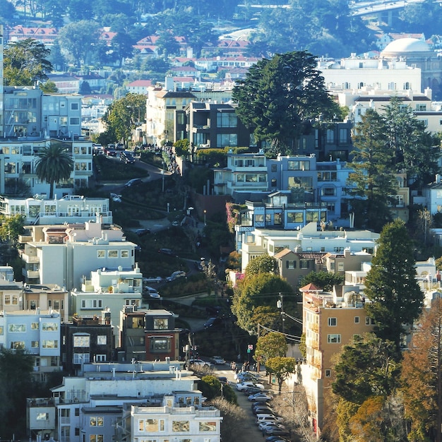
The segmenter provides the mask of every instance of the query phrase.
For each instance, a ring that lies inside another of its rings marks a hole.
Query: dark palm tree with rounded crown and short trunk
[[[68,179],[73,170],[73,160],[62,143],[49,144],[38,153],[35,173],[41,181],[50,184],[49,198],[54,196],[54,183]]]

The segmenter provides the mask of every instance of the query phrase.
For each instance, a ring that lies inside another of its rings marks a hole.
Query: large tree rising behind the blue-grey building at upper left
[[[11,86],[31,86],[47,80],[52,71],[47,57],[50,49],[32,38],[8,44],[4,48],[4,83]]]

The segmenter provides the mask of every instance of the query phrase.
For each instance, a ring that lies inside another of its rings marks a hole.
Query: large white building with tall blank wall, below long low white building
[[[124,232],[97,220],[68,225],[30,225],[21,235],[20,257],[28,283],[80,289],[85,275],[97,268],[135,268],[136,244]]]

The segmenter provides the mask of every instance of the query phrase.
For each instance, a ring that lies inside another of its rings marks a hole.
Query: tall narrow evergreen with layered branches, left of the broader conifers
[[[391,174],[393,154],[387,148],[386,131],[381,115],[369,109],[355,128],[354,172],[347,181],[347,193],[354,197],[356,224],[377,232],[391,220],[389,196],[395,193]]]

